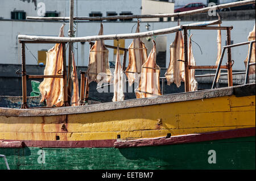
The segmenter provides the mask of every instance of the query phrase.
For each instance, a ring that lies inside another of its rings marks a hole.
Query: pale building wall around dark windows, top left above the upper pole
[[[13,10],[23,10],[26,12],[26,16],[38,16],[40,2],[46,5],[46,11],[56,10],[60,12],[59,16],[69,16],[69,0],[39,0],[36,1],[36,5],[32,1],[28,3],[26,0],[1,0],[0,17],[11,19]],[[100,11],[102,16],[106,16],[107,11],[115,11],[118,15],[122,11],[141,14],[141,6],[142,0],[78,0],[74,2],[74,15],[89,16],[92,11]]]

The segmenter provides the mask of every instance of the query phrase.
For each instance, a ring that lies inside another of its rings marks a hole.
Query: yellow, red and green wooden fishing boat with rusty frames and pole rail
[[[179,94],[72,107],[29,108],[26,78],[40,76],[26,74],[22,56],[22,108],[0,108],[0,154],[5,155],[10,169],[255,169],[255,83],[248,80],[249,67],[255,63],[248,61],[245,84],[239,86],[233,86],[229,66],[231,49],[250,44],[251,50],[255,40],[231,45],[232,27],[210,26],[214,24],[220,20],[130,35],[19,35],[24,55],[26,43],[65,45],[183,31],[185,72],[193,69],[186,63],[187,30],[225,30],[228,45],[223,47],[218,66],[213,66],[217,70],[212,89],[189,92],[185,79],[185,92]],[[225,49],[228,64],[224,67]],[[215,89],[221,68],[228,70],[229,86]],[[67,80],[65,69],[57,76]],[[84,86],[81,92],[86,90]],[[6,169],[5,160],[0,159],[0,169]]]

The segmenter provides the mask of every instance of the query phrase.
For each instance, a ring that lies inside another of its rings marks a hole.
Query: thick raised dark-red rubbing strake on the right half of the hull
[[[192,143],[192,142],[212,141],[212,140],[224,140],[229,138],[249,137],[249,136],[255,136],[255,127],[233,129],[229,131],[187,134],[187,135],[181,135],[181,136],[172,136],[170,138],[159,137],[159,138],[146,138],[146,139],[130,140],[130,141],[117,141],[115,142],[114,147],[129,148],[129,147],[138,147],[138,146],[175,145],[175,144],[186,144],[186,143]]]

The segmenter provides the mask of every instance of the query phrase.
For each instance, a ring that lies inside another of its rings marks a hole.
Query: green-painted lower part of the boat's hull
[[[43,152],[43,151],[44,152]],[[209,163],[216,153],[216,163]],[[255,169],[255,136],[137,148],[0,148],[10,169]],[[45,163],[40,157],[45,153]],[[38,162],[39,160],[39,162]],[[0,169],[6,169],[0,159]]]

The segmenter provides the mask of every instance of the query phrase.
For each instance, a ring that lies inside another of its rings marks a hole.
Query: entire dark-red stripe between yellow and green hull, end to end
[[[186,134],[172,136],[170,138],[146,138],[130,141],[117,140],[85,140],[85,141],[39,141],[39,140],[4,140],[0,141],[0,148],[129,148],[137,146],[160,146],[186,144],[192,142],[224,140],[228,138],[255,136],[255,127],[233,129],[229,131],[217,131],[199,134]],[[3,144],[4,143],[4,144]]]

